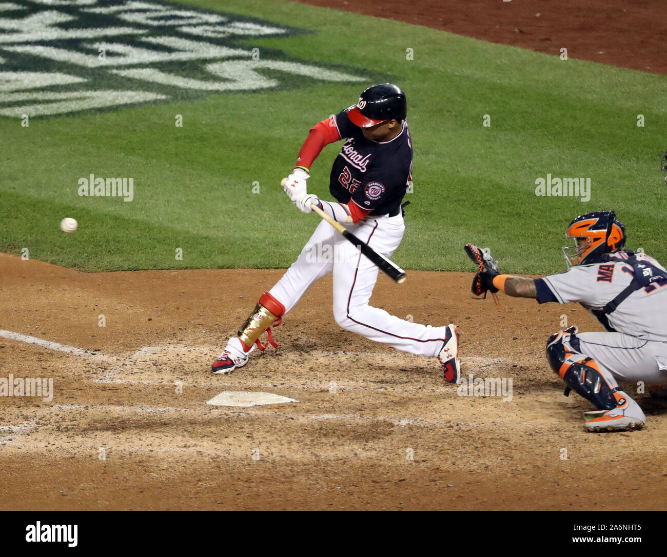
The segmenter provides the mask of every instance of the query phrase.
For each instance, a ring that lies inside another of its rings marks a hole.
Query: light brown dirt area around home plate
[[[223,339],[279,275],[88,274],[0,254],[0,329],[88,351],[0,338],[0,378],[53,378],[54,391],[49,402],[0,397],[0,508],[667,508],[656,458],[667,405],[639,396],[644,430],[587,434],[588,403],[564,398],[546,366],[562,315],[597,329],[582,310],[496,308],[470,298],[462,273],[380,281],[376,306],[459,324],[464,377],[512,378],[507,402],[458,396],[433,360],[339,330],[319,309],[331,304],[327,279],[277,328],[281,348],[211,375]],[[298,402],[205,404],[225,390]]]

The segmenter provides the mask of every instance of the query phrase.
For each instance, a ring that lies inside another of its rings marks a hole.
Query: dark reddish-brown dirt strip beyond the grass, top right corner
[[[662,0],[296,0],[547,54],[667,73]]]

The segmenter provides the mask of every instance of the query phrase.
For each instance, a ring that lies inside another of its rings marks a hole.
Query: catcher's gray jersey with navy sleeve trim
[[[538,281],[544,281],[560,304],[579,302],[592,313],[591,310],[602,310],[632,281],[632,266],[622,258],[622,252],[618,257],[618,260],[614,257],[614,260],[603,263],[576,265],[564,273]],[[637,253],[636,257],[642,263],[665,270],[648,255]],[[620,333],[667,342],[667,281],[636,290],[607,317],[610,326]]]

